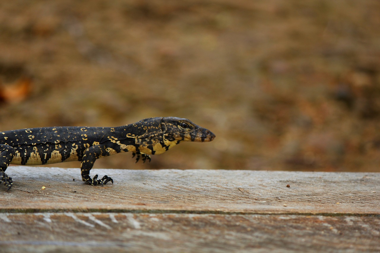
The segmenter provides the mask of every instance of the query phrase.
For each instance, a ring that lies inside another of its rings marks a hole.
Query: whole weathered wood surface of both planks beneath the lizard
[[[380,173],[93,169],[105,187],[79,169],[7,173],[0,252],[380,251]]]

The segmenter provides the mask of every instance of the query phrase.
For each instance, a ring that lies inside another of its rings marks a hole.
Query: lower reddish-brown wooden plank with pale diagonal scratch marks
[[[0,214],[0,252],[379,252],[379,217]]]

